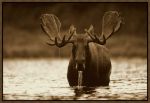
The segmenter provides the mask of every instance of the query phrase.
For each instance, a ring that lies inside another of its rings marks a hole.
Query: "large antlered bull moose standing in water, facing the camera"
[[[119,30],[122,18],[117,11],[106,12],[103,16],[102,33],[94,32],[91,25],[85,33],[77,34],[71,25],[65,35],[60,33],[61,22],[53,14],[41,15],[41,27],[49,37],[49,46],[59,48],[72,44],[67,79],[70,86],[79,85],[79,72],[82,71],[82,86],[108,86],[111,74],[109,50],[105,44]]]

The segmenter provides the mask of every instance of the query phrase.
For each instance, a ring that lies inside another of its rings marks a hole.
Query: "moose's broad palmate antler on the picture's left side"
[[[72,25],[69,29],[70,36],[66,39],[66,35],[64,35],[61,39],[60,35],[60,27],[61,22],[59,19],[53,14],[43,14],[41,16],[41,27],[42,30],[47,34],[51,43],[47,43],[50,46],[63,47],[67,43],[72,43],[71,37],[76,31],[76,28]]]

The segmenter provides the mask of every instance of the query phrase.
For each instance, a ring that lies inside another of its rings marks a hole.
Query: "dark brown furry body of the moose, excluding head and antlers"
[[[83,86],[108,86],[111,73],[111,61],[107,48],[95,43],[89,43],[85,50],[86,61],[85,70],[83,71]],[[67,73],[70,86],[78,85],[78,70],[74,67],[74,55],[74,52],[72,52]]]

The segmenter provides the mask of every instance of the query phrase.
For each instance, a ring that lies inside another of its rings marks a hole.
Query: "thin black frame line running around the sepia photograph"
[[[3,4],[4,3],[147,3],[147,100],[77,100],[77,101],[148,101],[148,1],[144,2],[2,2],[2,101],[76,101],[76,100],[4,100],[3,97]]]

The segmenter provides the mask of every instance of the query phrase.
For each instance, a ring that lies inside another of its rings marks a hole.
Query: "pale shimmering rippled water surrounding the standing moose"
[[[4,59],[4,100],[147,100],[147,60],[112,59],[110,86],[70,87],[68,59]]]

